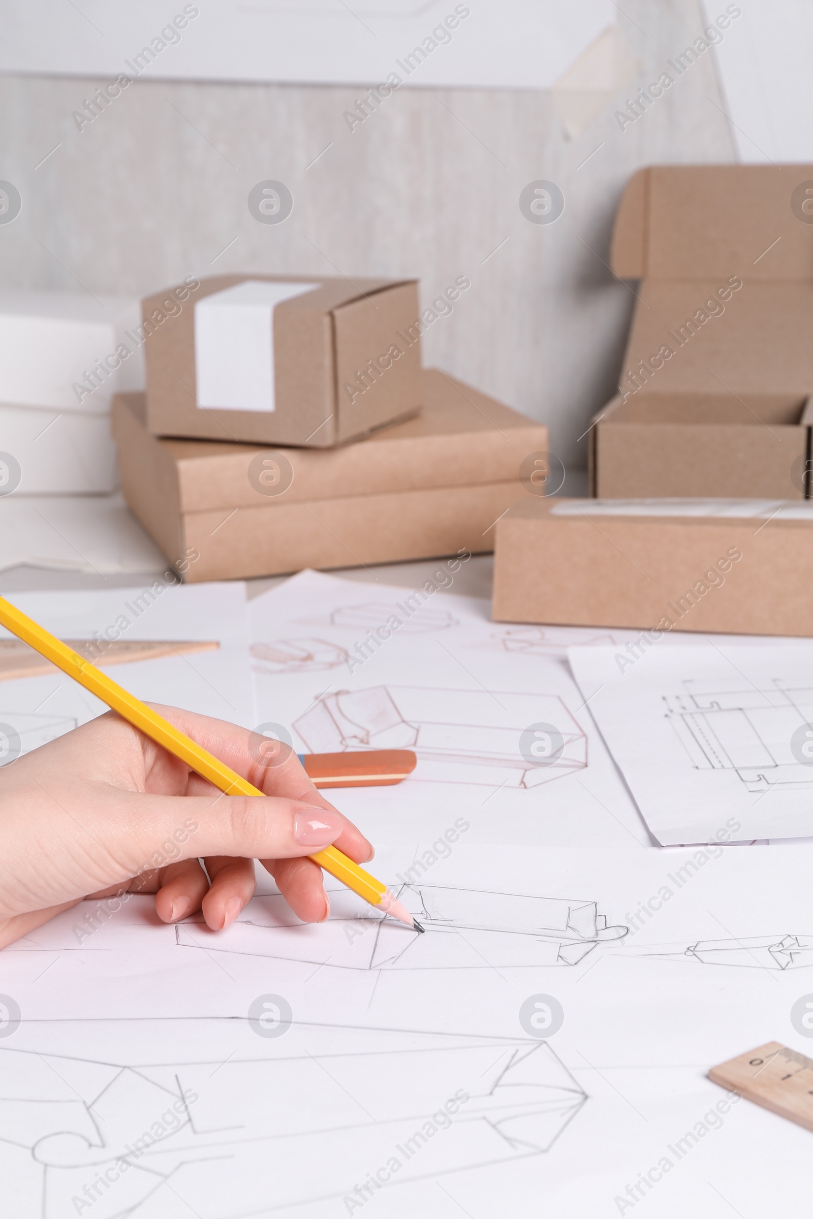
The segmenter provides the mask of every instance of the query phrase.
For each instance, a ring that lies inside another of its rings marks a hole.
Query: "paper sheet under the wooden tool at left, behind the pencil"
[[[161,594],[155,590],[163,588]],[[113,664],[113,680],[149,702],[185,707],[252,725],[254,695],[246,651],[245,585],[161,581],[134,589],[12,592],[9,600],[61,639],[206,640],[212,651]],[[108,631],[112,631],[108,634]],[[11,639],[0,629],[0,638]],[[107,707],[66,674],[0,681],[0,722],[20,734],[23,752],[62,736]]]

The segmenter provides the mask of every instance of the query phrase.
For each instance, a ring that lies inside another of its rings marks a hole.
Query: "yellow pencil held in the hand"
[[[196,745],[191,737],[171,724],[163,716],[160,716],[157,711],[152,711],[140,698],[129,694],[117,681],[108,678],[106,673],[98,669],[93,661],[79,656],[72,647],[68,647],[62,640],[51,635],[50,631],[40,627],[39,623],[35,623],[33,618],[29,618],[10,601],[6,601],[5,597],[0,597],[0,624],[33,647],[40,656],[56,664],[57,668],[67,673],[79,685],[83,685],[90,694],[106,702],[112,711],[118,712],[134,728],[140,729],[140,731],[150,736],[157,745],[162,745],[165,750],[174,753],[177,758],[185,762],[201,778],[208,779],[211,784],[219,787],[227,796],[263,795],[262,791],[239,775],[236,770],[233,770],[224,762],[221,762],[219,758],[216,758],[213,753]],[[371,876],[368,872],[364,872],[363,868],[360,868],[357,863],[353,863],[352,859],[347,858],[346,855],[343,855],[334,846],[329,846],[324,851],[317,851],[316,855],[311,856],[311,859],[318,863],[321,868],[324,868],[325,872],[329,872],[332,876],[335,876],[336,880],[352,889],[355,894],[363,897],[371,906],[380,906],[388,914],[400,919],[401,923],[406,923],[407,926],[412,926],[417,931],[423,931],[421,924],[412,918],[412,914],[388,890],[386,885],[383,885],[375,876]]]

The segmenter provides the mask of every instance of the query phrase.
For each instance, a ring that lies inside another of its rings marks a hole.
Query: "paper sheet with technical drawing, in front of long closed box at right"
[[[631,653],[572,647],[568,658],[659,842],[706,842],[733,825],[746,841],[813,834],[809,640],[658,640]]]

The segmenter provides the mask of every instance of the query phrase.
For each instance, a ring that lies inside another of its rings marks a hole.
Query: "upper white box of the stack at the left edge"
[[[0,402],[105,414],[144,388],[140,322],[134,297],[0,290]]]

